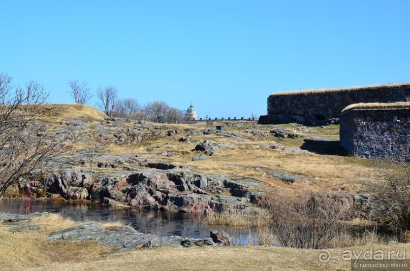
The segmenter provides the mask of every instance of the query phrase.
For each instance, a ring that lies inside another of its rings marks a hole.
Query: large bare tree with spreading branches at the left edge
[[[43,86],[31,81],[22,89],[11,81],[0,74],[0,198],[35,170],[47,168],[49,159],[64,151],[65,142],[35,121],[49,112]]]

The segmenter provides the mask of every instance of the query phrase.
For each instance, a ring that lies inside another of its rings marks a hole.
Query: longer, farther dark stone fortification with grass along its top
[[[268,97],[268,114],[259,122],[321,125],[325,120],[339,118],[341,111],[352,104],[409,100],[410,83],[279,92]]]

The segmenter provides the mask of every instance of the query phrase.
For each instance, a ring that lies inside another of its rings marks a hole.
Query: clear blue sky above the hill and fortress
[[[410,81],[410,1],[0,0],[0,72],[72,103],[68,79],[199,117],[284,90]],[[91,105],[94,101],[91,101]]]

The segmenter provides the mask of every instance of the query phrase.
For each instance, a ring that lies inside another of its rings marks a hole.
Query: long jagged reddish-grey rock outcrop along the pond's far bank
[[[99,173],[89,182],[89,172],[69,170],[48,177],[46,192],[65,199],[99,200],[112,207],[135,207],[183,213],[208,213],[225,209],[258,212],[256,198],[264,189],[251,179],[230,180],[223,175],[173,170]]]

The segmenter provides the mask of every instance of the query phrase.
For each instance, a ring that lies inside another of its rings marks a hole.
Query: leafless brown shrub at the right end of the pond
[[[270,225],[284,247],[330,247],[342,229],[346,209],[328,196],[302,193],[267,195],[261,206],[270,213]]]

